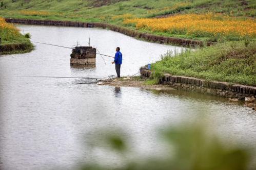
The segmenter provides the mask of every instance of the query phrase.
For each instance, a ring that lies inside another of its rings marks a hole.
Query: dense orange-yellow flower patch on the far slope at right
[[[171,34],[204,36],[256,36],[254,19],[242,19],[221,14],[182,14],[167,18],[125,19],[125,24],[135,23],[136,29],[146,29]]]

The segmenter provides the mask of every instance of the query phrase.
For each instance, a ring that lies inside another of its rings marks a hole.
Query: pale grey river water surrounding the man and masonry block
[[[121,76],[181,47],[139,41],[102,29],[18,26],[32,41],[69,46],[91,45],[107,55],[123,53]],[[77,162],[106,163],[118,158],[83,143],[97,129],[122,128],[133,150],[145,155],[157,148],[157,128],[200,114],[219,134],[244,145],[256,143],[256,113],[221,98],[178,90],[155,91],[97,86],[84,79],[19,78],[18,76],[99,77],[115,75],[111,58],[96,58],[95,67],[71,67],[70,49],[36,44],[28,54],[0,57],[1,169],[71,169]],[[159,151],[160,152],[160,151]],[[104,158],[104,159],[103,159]]]

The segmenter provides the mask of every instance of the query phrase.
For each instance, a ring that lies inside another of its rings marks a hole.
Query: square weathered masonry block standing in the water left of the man
[[[95,65],[96,48],[91,46],[76,46],[70,55],[70,65]]]

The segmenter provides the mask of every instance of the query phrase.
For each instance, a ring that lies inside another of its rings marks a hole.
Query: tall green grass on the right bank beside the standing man
[[[246,46],[244,41],[225,42],[181,54],[168,52],[161,61],[152,64],[152,70],[155,79],[169,73],[256,85],[256,43],[250,42]]]

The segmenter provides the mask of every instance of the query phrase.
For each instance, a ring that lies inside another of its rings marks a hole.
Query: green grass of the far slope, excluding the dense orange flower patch
[[[166,14],[183,13],[223,13],[230,16],[254,17],[256,16],[256,2],[249,1],[221,1],[221,0],[128,0],[113,3],[112,0],[57,0],[57,1],[4,1],[0,8],[0,16],[13,18],[31,18],[48,20],[72,20],[86,22],[108,22],[114,25],[121,25],[135,29],[133,26],[126,26],[124,18],[113,19],[113,16],[131,14],[132,17],[147,18]],[[99,7],[99,4],[103,4]],[[95,7],[96,5],[96,7]],[[6,8],[5,8],[6,7]],[[121,8],[122,7],[122,8]],[[24,14],[22,10],[46,11],[48,14]],[[151,32],[140,30],[155,35],[169,37],[216,41],[216,37],[196,37],[193,35],[179,35],[168,32]],[[227,38],[233,40],[232,38]],[[235,38],[237,39],[237,38]]]

